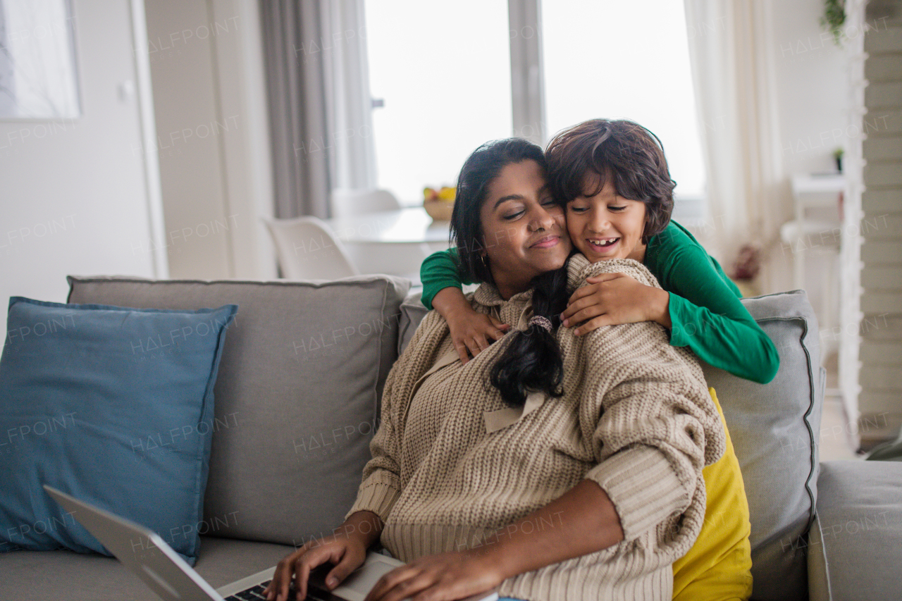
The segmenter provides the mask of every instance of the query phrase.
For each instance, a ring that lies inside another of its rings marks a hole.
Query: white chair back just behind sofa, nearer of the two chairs
[[[337,280],[359,275],[332,230],[317,217],[263,219],[276,245],[282,277]]]

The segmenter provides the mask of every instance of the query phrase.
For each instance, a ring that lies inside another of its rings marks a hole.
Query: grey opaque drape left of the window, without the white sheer
[[[275,217],[330,217],[336,131],[327,106],[317,0],[260,0],[272,136]]]

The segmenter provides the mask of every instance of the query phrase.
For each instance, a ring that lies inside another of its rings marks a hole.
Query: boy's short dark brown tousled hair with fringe
[[[584,121],[558,133],[545,156],[548,184],[557,199],[594,196],[610,175],[617,194],[645,203],[642,244],[670,223],[676,181],[670,179],[663,144],[641,125],[625,119]],[[590,172],[599,178],[595,190],[584,189]]]

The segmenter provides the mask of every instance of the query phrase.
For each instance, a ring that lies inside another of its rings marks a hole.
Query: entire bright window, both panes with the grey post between
[[[404,204],[419,204],[424,186],[454,185],[476,146],[525,131],[512,123],[511,35],[532,30],[511,25],[507,0],[364,2],[370,87],[384,100],[373,110],[379,186]],[[537,14],[538,0],[518,2],[512,5],[518,13]],[[677,182],[677,218],[704,217],[704,163],[682,3],[547,0],[538,19],[543,142],[586,119],[632,119],[664,144]],[[537,36],[523,37],[538,43]],[[528,55],[529,49],[515,58],[523,64]],[[537,70],[529,79],[538,90]]]

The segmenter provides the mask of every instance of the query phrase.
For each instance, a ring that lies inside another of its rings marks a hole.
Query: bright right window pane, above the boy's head
[[[673,0],[542,3],[546,132],[595,117],[658,135],[681,197],[700,197],[704,163],[686,14]]]

